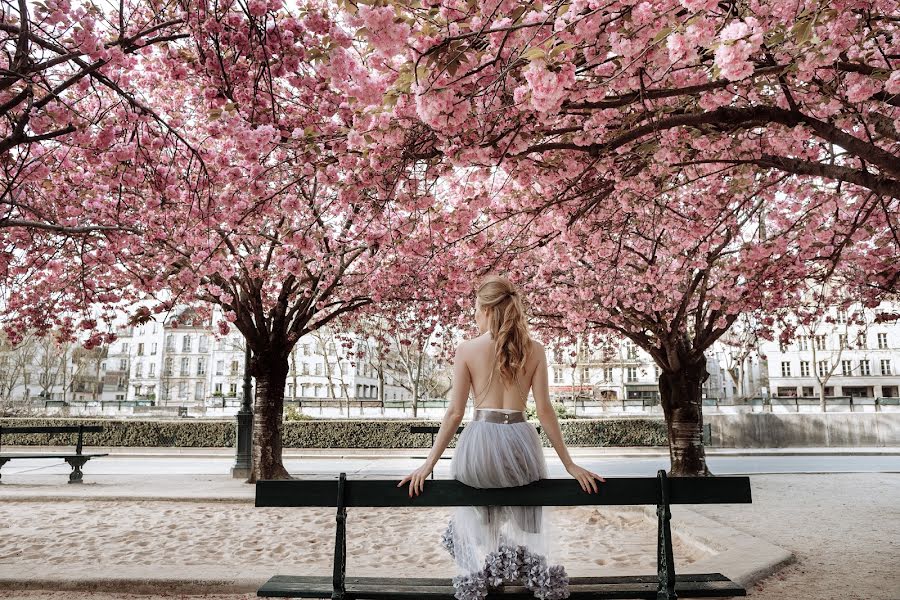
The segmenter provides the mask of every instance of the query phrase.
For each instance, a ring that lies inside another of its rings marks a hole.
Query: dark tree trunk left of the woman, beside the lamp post
[[[254,353],[251,373],[256,378],[256,394],[253,411],[253,464],[247,481],[256,483],[260,479],[291,479],[281,462],[287,356],[257,356]]]

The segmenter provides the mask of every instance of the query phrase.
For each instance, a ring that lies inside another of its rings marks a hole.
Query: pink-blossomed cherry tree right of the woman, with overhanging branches
[[[703,352],[738,315],[895,289],[897,6],[355,1],[347,91],[382,155],[477,181],[460,260],[527,282],[552,331],[653,356],[672,474],[705,475]]]

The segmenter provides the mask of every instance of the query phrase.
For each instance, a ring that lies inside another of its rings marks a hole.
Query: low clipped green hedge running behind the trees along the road
[[[114,419],[0,419],[0,426],[14,425],[101,425],[100,433],[85,433],[85,446],[141,447],[233,447],[236,424],[233,420],[184,421]],[[422,420],[310,420],[286,421],[285,448],[430,448],[430,434],[411,434],[410,425],[440,425]],[[661,419],[561,419],[567,446],[666,446],[666,425]],[[76,435],[10,434],[3,444],[27,446],[74,446]],[[450,447],[456,445],[456,435]],[[541,430],[541,441],[550,446]]]

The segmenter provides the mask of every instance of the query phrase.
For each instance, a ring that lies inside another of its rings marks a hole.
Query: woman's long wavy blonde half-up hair
[[[488,316],[488,330],[496,342],[496,362],[501,379],[512,386],[531,354],[531,336],[522,295],[506,277],[487,276],[476,292]]]

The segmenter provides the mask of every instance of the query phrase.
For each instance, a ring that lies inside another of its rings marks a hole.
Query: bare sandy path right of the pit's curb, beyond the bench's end
[[[900,600],[900,473],[753,475],[753,504],[693,506],[796,562],[747,590],[753,600]]]

